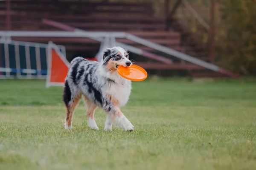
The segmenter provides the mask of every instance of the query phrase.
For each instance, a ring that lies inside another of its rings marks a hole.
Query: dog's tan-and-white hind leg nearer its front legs
[[[95,105],[93,102],[91,102],[90,100],[86,99],[84,97],[84,100],[86,101],[86,105],[87,105],[87,118],[88,118],[88,126],[91,129],[95,129],[95,130],[99,130],[99,127],[97,126],[95,120],[94,120],[94,111],[95,109],[98,107],[97,105]]]

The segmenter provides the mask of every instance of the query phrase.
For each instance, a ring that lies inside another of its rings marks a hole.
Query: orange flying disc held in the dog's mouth
[[[124,67],[119,65],[117,72],[120,76],[131,81],[143,81],[148,77],[147,72],[138,65],[131,65],[130,67]]]

